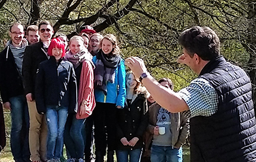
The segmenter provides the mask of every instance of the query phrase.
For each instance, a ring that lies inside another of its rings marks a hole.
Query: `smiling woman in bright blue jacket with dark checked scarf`
[[[96,66],[94,82],[96,107],[93,111],[95,154],[96,161],[104,161],[108,147],[107,161],[113,162],[116,111],[124,107],[126,97],[125,67],[117,46],[117,39],[113,34],[104,36],[100,46],[101,50],[93,57]]]

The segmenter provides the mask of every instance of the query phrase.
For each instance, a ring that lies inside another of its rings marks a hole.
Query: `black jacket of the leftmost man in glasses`
[[[17,65],[9,46],[0,53],[0,91],[4,103],[9,101],[11,97],[24,94],[22,77],[18,73]]]

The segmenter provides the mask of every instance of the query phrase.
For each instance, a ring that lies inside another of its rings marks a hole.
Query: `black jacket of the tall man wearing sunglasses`
[[[48,55],[43,47],[43,42],[26,47],[22,68],[25,94],[32,93],[35,97],[36,71],[38,70],[39,63],[45,60],[48,60]]]

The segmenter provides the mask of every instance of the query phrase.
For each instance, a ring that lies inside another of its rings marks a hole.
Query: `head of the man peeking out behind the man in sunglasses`
[[[40,36],[38,34],[38,26],[31,25],[27,27],[26,39],[29,42],[29,45],[39,42]]]

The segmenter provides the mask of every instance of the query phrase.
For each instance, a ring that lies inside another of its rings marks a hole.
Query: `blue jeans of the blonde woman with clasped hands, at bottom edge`
[[[135,150],[117,150],[115,152],[117,154],[117,162],[128,162],[128,155],[130,157],[130,162],[141,161],[141,148]]]

